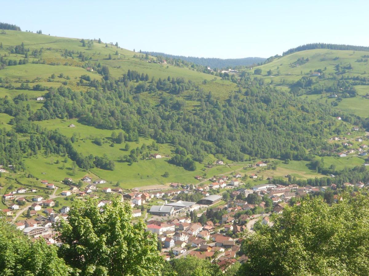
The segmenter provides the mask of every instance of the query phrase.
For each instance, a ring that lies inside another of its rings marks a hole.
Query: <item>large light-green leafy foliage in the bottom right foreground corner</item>
[[[369,275],[368,215],[364,195],[286,207],[272,227],[245,238],[250,261],[239,275]]]

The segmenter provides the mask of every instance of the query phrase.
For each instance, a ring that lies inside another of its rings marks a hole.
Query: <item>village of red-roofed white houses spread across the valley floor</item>
[[[161,158],[159,154],[155,158]],[[222,160],[214,162],[223,165]],[[268,162],[251,165],[258,170],[268,169]],[[62,183],[68,190],[59,191],[54,183],[39,180],[45,188],[51,190],[48,198],[37,194],[37,189],[19,187],[3,195],[8,206],[1,210],[10,223],[23,231],[31,239],[44,238],[49,244],[58,245],[54,223],[68,220],[70,206],[59,204],[60,198],[97,199],[97,207],[111,204],[114,197],[128,202],[132,207],[132,223],[144,220],[147,231],[158,237],[158,249],[165,260],[192,255],[200,259],[215,259],[222,269],[235,262],[244,262],[248,258],[241,252],[242,233],[252,233],[254,228],[273,225],[275,214],[282,213],[285,206],[299,204],[300,198],[308,194],[334,191],[335,184],[329,187],[313,187],[296,184],[273,184],[268,177],[262,184],[256,184],[258,174],[238,173],[213,176],[202,179],[197,185],[170,183],[153,185],[142,189],[123,190],[120,187],[106,187],[106,180],[85,176],[77,183],[65,178]],[[256,185],[245,183],[253,181]],[[367,183],[368,184],[368,183]],[[104,187],[102,187],[103,185]],[[364,187],[364,183],[345,183],[345,186]],[[334,195],[334,201],[338,201]],[[227,264],[227,265],[225,265]]]

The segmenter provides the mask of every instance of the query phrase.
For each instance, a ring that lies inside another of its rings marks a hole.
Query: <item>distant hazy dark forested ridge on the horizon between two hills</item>
[[[262,63],[263,61],[265,61],[265,59],[262,57],[245,57],[242,59],[218,59],[214,57],[210,58],[210,57],[176,56],[172,54],[165,54],[165,53],[159,53],[159,52],[143,52],[143,53],[148,53],[151,56],[162,56],[164,58],[186,60],[194,64],[199,64],[202,66],[209,66],[210,68],[249,66],[252,64],[258,64],[258,63]]]

